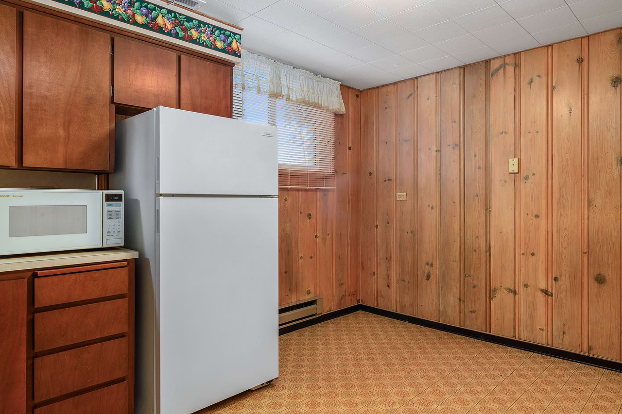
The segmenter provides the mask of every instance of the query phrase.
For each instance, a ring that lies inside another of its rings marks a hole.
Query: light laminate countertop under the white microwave
[[[0,273],[15,272],[17,270],[43,269],[45,267],[112,262],[114,260],[136,259],[137,257],[137,251],[124,249],[123,247],[0,256]]]

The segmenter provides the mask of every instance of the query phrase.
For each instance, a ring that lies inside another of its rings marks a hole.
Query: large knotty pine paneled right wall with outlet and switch
[[[361,92],[361,302],[622,359],[621,45],[611,30]]]

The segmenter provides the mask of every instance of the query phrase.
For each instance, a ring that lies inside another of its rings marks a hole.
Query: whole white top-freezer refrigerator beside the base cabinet
[[[158,107],[116,124],[136,264],[136,412],[185,414],[278,375],[275,127]]]

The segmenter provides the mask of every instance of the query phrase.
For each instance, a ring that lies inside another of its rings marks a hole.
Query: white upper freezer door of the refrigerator
[[[157,108],[159,194],[277,195],[277,129]]]

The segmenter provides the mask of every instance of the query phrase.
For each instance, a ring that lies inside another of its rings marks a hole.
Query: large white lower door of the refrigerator
[[[192,413],[277,377],[277,203],[158,199],[160,414]]]

